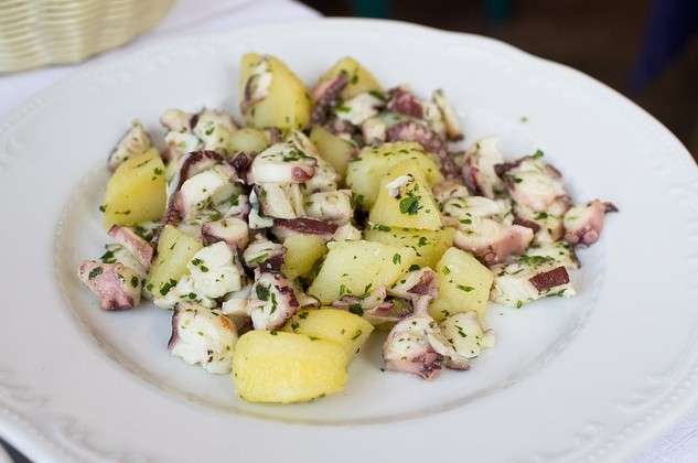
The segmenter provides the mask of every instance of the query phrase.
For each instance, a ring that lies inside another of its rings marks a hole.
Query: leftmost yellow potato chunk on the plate
[[[158,150],[127,159],[107,182],[104,227],[158,220],[165,208],[164,164]]]

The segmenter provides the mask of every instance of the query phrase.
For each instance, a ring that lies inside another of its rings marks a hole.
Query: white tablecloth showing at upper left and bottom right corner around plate
[[[313,17],[318,17],[314,10],[292,0],[179,0],[153,31],[118,50],[90,60],[87,65],[92,62],[110,60],[112,56],[128,53],[161,37]],[[85,64],[0,77],[0,118],[31,95],[82,66]],[[698,409],[675,424],[656,442],[647,445],[634,463],[696,462],[698,462]]]

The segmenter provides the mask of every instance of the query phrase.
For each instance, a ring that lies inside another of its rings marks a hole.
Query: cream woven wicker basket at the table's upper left
[[[76,63],[149,30],[174,0],[0,0],[0,73]]]

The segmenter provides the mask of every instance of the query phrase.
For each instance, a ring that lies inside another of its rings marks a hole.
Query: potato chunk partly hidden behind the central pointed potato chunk
[[[429,186],[443,181],[439,165],[419,143],[397,141],[365,147],[346,169],[346,185],[362,200],[364,209],[368,211],[376,202],[380,180],[388,170],[406,160],[417,162]]]

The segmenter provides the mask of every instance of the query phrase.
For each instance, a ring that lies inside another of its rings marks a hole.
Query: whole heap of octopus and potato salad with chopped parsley
[[[240,120],[168,109],[162,147],[135,121],[110,153],[111,243],[78,268],[103,310],[151,300],[172,355],[288,403],[341,391],[372,335],[385,369],[433,380],[494,345],[490,301],[574,295],[574,248],[616,209],[574,203],[541,151],[459,151],[442,90],[384,89],[351,57],[310,91],[277,57],[240,67]]]

